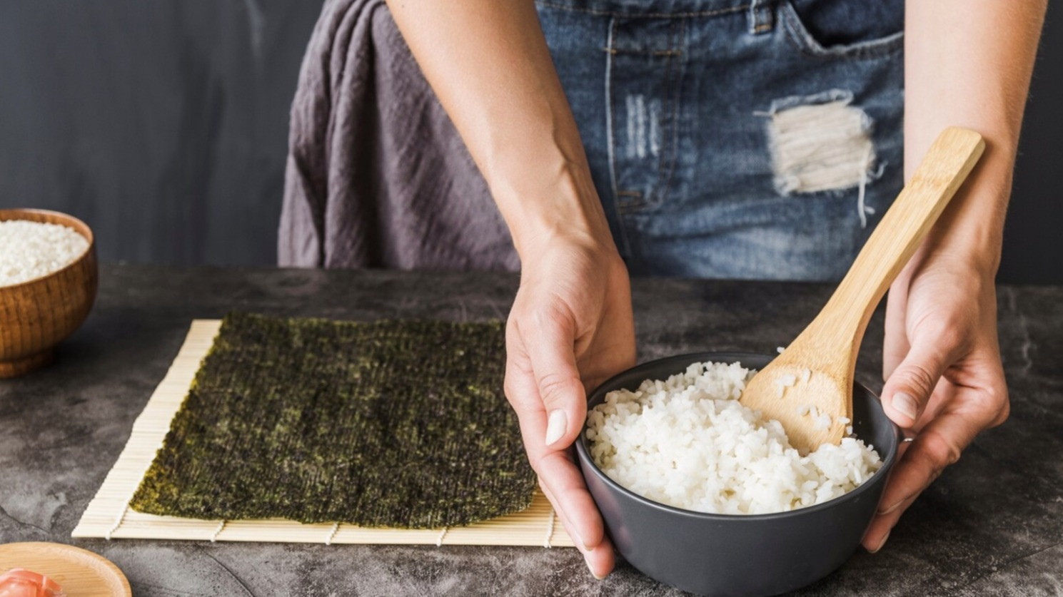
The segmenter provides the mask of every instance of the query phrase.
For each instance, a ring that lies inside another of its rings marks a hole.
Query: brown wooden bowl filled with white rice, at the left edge
[[[0,378],[48,364],[96,300],[96,245],[81,220],[0,209]]]

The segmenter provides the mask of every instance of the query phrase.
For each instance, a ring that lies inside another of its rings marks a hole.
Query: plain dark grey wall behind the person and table
[[[275,262],[288,107],[319,2],[0,2],[0,207],[105,260]],[[1001,282],[1063,284],[1063,13],[1034,71]]]

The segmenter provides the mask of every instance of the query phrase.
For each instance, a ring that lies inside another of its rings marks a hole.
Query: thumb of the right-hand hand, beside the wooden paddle
[[[932,339],[913,342],[882,388],[887,416],[900,427],[914,426],[950,362],[949,351]]]

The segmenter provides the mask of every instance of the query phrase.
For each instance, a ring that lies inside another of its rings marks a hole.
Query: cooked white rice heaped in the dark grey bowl
[[[827,501],[882,465],[871,446],[851,437],[802,457],[779,422],[738,402],[754,373],[739,363],[694,363],[667,381],[609,392],[588,413],[591,457],[639,495],[721,514]]]

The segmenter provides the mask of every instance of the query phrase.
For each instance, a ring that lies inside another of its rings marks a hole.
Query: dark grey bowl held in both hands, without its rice
[[[608,392],[635,390],[644,379],[665,379],[693,362],[739,361],[761,369],[774,356],[699,353],[651,361],[609,379],[594,390],[588,408]],[[897,457],[900,429],[882,411],[878,397],[860,383],[853,388],[853,429],[874,444],[882,467],[851,492],[775,514],[705,514],[637,495],[610,479],[591,460],[587,433],[576,442],[587,479],[617,551],[647,576],[705,595],[777,595],[815,582],[841,566],[860,546],[887,474]],[[586,428],[585,428],[586,431]]]

